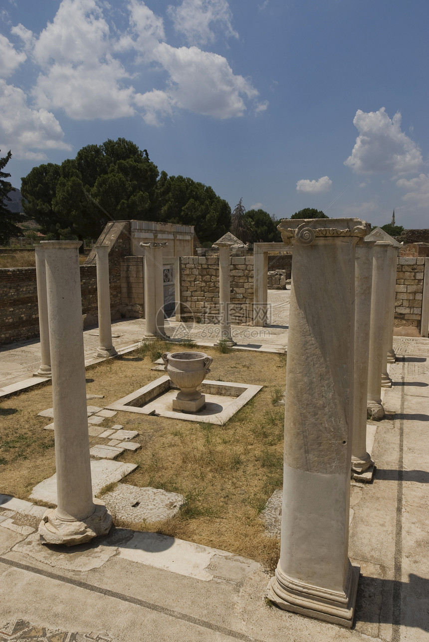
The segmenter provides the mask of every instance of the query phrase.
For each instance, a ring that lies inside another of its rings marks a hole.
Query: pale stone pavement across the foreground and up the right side
[[[372,484],[351,483],[355,625],[270,607],[259,564],[165,535],[112,529],[42,546],[40,507],[0,507],[0,641],[426,642],[429,634],[429,340],[395,338]]]

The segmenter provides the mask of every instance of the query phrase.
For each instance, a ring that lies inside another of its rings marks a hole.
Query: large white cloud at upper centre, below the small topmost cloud
[[[242,76],[235,76],[226,58],[197,47],[174,48],[165,42],[154,57],[170,75],[168,94],[178,107],[216,118],[242,116],[242,96],[258,91]]]

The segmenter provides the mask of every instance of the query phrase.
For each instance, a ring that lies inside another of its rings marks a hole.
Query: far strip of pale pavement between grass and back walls
[[[269,290],[269,327],[233,325],[232,337],[239,348],[284,352],[287,347],[287,329],[289,323],[290,290]],[[119,353],[137,347],[145,332],[144,319],[124,319],[112,323],[114,346]],[[174,340],[188,337],[198,345],[213,345],[219,338],[218,325],[178,323],[165,321],[165,331]],[[103,361],[96,358],[98,347],[98,329],[89,328],[83,333],[85,363]],[[27,340],[0,347],[0,397],[3,388],[26,382],[23,387],[44,381],[43,377],[33,377],[40,366],[40,343],[38,340]],[[28,381],[29,380],[29,381]],[[16,386],[19,389],[19,386]],[[13,392],[8,388],[6,392]]]

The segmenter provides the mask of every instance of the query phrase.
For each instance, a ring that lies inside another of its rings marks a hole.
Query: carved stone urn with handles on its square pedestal
[[[180,388],[172,401],[172,409],[191,413],[201,410],[206,398],[197,387],[210,372],[213,358],[205,352],[165,352],[162,360],[171,381]]]

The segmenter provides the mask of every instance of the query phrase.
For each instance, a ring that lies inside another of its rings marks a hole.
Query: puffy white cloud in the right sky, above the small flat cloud
[[[357,110],[353,125],[359,135],[344,165],[358,173],[407,174],[422,163],[419,146],[401,131],[401,114],[392,119],[382,107],[378,112]]]

